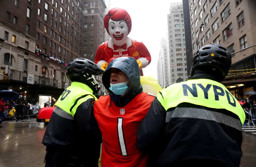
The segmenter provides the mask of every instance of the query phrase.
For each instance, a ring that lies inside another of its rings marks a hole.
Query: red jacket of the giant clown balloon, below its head
[[[149,65],[149,63],[151,62],[151,56],[147,47],[142,42],[133,40],[130,37],[128,38],[129,38],[128,42],[126,42],[127,49],[121,50],[121,51],[114,50],[113,42],[111,39],[109,39],[109,41],[103,42],[97,49],[97,52],[95,55],[95,63],[99,67],[101,67],[101,65],[104,62],[109,63],[109,60],[112,57],[129,56],[129,57],[134,57],[136,60],[140,60],[143,68]],[[119,55],[116,54],[117,51],[119,52]],[[115,52],[115,54],[113,54],[113,52]],[[128,52],[128,55],[127,55],[127,52]],[[141,73],[142,73],[142,70],[141,70]]]

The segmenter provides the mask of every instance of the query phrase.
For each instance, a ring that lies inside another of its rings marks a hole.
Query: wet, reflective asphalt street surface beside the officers
[[[0,128],[0,167],[44,167],[46,147],[41,144],[46,125],[35,118],[4,121]],[[250,128],[250,129],[247,129]],[[254,131],[255,130],[255,131]],[[254,134],[255,133],[255,134]],[[256,126],[243,127],[240,167],[256,166]]]

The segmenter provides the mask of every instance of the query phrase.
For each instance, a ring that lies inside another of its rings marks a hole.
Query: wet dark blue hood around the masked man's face
[[[118,68],[122,70],[130,79],[131,86],[128,89],[128,94],[124,97],[115,95],[109,90],[110,87],[110,68]],[[135,58],[133,57],[118,57],[112,60],[102,76],[104,87],[109,92],[111,100],[117,107],[123,107],[132,101],[138,94],[142,93],[143,89],[140,81],[140,68]]]

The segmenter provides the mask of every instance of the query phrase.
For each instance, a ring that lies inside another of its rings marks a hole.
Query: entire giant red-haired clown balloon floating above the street
[[[111,38],[98,47],[95,63],[105,70],[110,59],[123,56],[134,57],[143,76],[142,68],[149,65],[151,56],[142,42],[128,37],[132,29],[132,20],[129,13],[122,8],[110,9],[104,17],[104,27]]]

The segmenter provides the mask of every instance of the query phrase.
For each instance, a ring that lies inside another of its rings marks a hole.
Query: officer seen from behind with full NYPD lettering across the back
[[[197,50],[191,78],[163,89],[138,127],[150,167],[239,167],[245,114],[220,82],[231,66],[226,47]]]

